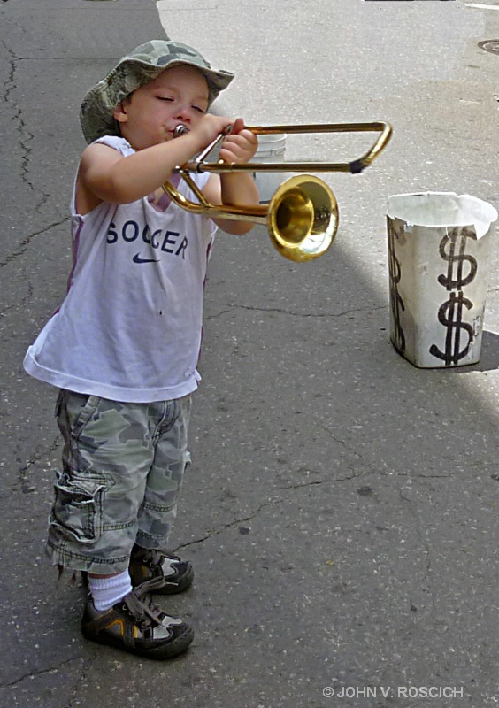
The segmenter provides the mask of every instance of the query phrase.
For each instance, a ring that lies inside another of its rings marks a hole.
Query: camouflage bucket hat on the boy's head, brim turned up
[[[87,142],[103,135],[119,135],[112,113],[117,105],[171,66],[196,66],[208,82],[210,104],[234,79],[234,74],[215,71],[201,54],[187,44],[170,40],[151,40],[136,47],[111,69],[103,81],[88,91],[80,109],[80,122]]]

